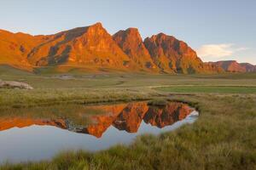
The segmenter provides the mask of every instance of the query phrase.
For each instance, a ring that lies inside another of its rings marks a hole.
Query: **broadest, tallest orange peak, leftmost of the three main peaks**
[[[94,65],[124,69],[127,55],[113,41],[101,23],[55,34],[32,50],[32,65]]]

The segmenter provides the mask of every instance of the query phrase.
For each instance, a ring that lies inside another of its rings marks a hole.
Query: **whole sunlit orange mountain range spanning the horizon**
[[[49,66],[184,74],[233,71],[226,62],[204,63],[175,37],[159,33],[143,40],[137,28],[110,35],[101,23],[45,36],[0,30],[0,65],[27,71]],[[255,71],[255,65],[240,65],[247,69],[239,71]]]

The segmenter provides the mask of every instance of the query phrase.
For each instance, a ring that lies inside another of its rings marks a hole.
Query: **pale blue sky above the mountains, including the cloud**
[[[256,65],[256,0],[1,0],[0,29],[54,34],[96,22],[110,34],[137,27],[187,42],[203,61]]]

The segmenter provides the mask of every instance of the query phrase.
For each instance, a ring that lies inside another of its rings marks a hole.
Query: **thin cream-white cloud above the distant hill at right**
[[[222,58],[232,56],[236,52],[246,49],[247,48],[237,48],[233,43],[220,43],[202,45],[196,52],[200,57]]]

